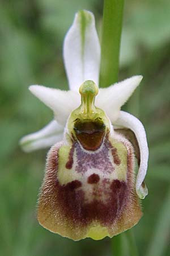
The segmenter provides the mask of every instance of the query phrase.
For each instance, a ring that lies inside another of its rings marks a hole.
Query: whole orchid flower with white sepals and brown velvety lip
[[[37,218],[44,228],[73,240],[113,237],[137,224],[139,199],[147,195],[145,129],[121,111],[142,76],[98,88],[100,43],[89,11],[75,15],[63,59],[70,90],[29,87],[53,110],[54,120],[20,141],[26,152],[52,146]]]

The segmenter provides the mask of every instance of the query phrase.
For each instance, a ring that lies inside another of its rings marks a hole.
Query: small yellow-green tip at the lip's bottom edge
[[[108,229],[100,226],[100,224],[90,228],[90,230],[87,232],[87,237],[91,237],[94,240],[101,240],[106,236],[109,236]]]

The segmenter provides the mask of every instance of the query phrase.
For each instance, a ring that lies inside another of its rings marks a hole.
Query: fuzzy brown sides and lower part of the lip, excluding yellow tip
[[[79,180],[59,184],[57,169],[60,145],[53,146],[49,151],[39,199],[37,217],[40,224],[73,240],[86,237],[88,229],[97,224],[106,226],[110,237],[137,224],[142,213],[134,189],[133,148],[129,142],[124,143],[128,152],[127,181],[100,180],[96,174],[88,177],[88,183],[94,186],[92,200],[85,200]],[[100,198],[101,192],[105,200]]]

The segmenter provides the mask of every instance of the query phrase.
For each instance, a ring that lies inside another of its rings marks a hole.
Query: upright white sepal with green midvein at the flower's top
[[[86,80],[99,84],[100,43],[90,11],[76,13],[64,40],[63,59],[71,90],[78,92]]]

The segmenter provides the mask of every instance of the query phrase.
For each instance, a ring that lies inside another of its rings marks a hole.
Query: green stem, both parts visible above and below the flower
[[[118,80],[123,10],[124,0],[104,1],[101,36],[100,87],[107,87]],[[113,255],[124,255],[125,237],[128,242],[128,251],[126,251],[126,253],[129,253],[130,256],[138,256],[137,246],[135,245],[134,236],[131,230],[113,238]]]

